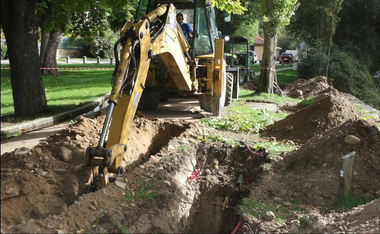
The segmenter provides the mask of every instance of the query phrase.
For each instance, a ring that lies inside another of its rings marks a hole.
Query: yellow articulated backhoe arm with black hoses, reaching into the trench
[[[158,6],[138,22],[128,20],[121,30],[120,44],[120,62],[112,78],[109,108],[100,139],[86,150],[86,165],[92,166],[95,189],[108,184],[108,173],[120,176],[124,172],[122,162],[128,134],[153,56],[160,56],[179,90],[190,91],[194,85],[190,65],[195,61],[185,56],[190,46],[176,23],[173,4]]]

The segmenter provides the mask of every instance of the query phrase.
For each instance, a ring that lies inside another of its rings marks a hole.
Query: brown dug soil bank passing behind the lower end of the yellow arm
[[[136,116],[138,117],[138,116]],[[87,192],[91,170],[85,165],[86,148],[98,141],[104,113],[78,122],[33,149],[19,148],[2,155],[1,225],[59,214]],[[124,163],[127,170],[149,159],[169,140],[199,123],[138,118],[133,121]]]

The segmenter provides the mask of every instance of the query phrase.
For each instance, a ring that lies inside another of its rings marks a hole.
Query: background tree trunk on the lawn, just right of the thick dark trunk
[[[41,68],[57,68],[57,49],[61,42],[63,32],[52,30],[44,32],[41,39],[40,64]],[[59,75],[55,69],[41,69],[42,74],[52,73]]]

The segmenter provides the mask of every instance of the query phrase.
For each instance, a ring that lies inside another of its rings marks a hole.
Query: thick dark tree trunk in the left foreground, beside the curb
[[[14,113],[47,109],[37,45],[37,0],[1,1],[1,25],[8,45]]]

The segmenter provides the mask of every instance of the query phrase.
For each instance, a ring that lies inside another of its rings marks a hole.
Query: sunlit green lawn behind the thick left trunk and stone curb
[[[9,67],[2,64],[1,67]],[[57,64],[58,68],[114,68],[108,64]],[[71,110],[88,104],[111,91],[113,70],[59,70],[59,76],[43,76],[49,112],[40,116],[13,120],[13,96],[10,70],[1,70],[1,116],[5,121],[25,121]],[[4,118],[3,118],[4,116]]]

